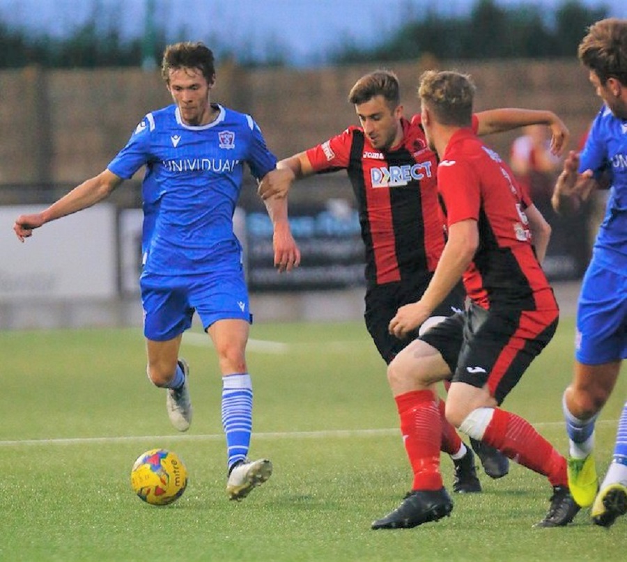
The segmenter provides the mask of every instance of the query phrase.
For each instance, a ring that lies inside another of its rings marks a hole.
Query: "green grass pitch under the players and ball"
[[[562,391],[571,379],[565,319],[504,407],[566,452]],[[483,493],[455,496],[451,517],[371,531],[409,490],[408,462],[385,366],[360,322],[256,324],[251,457],[274,475],[228,501],[221,384],[206,336],[183,339],[194,423],[177,434],[164,391],[145,375],[141,329],[0,333],[0,560],[6,561],[619,561],[627,517],[609,531],[587,510],[566,529],[532,529],[548,508],[545,478],[512,465],[481,473]],[[598,423],[604,473],[627,396],[622,373]],[[189,485],[171,506],[144,504],[130,468],[148,448],[176,451]],[[452,465],[442,458],[451,484]]]

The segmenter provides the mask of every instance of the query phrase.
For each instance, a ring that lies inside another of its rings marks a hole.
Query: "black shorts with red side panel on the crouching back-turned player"
[[[486,311],[470,304],[420,336],[447,362],[454,382],[483,388],[498,404],[550,342],[559,311]]]

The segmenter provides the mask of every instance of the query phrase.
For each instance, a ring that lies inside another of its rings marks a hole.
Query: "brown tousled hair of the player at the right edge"
[[[627,86],[627,19],[610,17],[589,26],[577,54],[601,84],[616,78]]]

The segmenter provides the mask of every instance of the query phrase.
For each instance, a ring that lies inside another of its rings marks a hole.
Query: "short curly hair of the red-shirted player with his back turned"
[[[418,97],[442,125],[468,127],[472,123],[475,89],[469,75],[452,70],[427,70],[420,77]]]

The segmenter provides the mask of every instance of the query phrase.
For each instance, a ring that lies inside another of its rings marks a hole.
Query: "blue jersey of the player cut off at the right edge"
[[[596,116],[581,153],[579,171],[598,177],[609,171],[612,187],[605,217],[594,243],[594,256],[607,269],[627,272],[627,120],[603,106]]]

